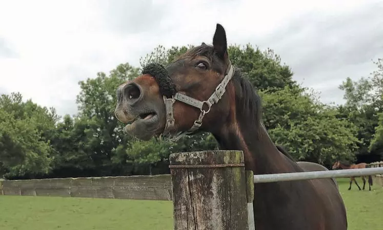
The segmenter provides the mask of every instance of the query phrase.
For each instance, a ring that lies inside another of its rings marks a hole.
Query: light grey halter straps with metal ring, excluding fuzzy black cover
[[[225,78],[221,81],[221,83],[218,84],[214,92],[211,94],[210,98],[206,101],[201,102],[197,99],[191,98],[179,92],[176,92],[171,98],[167,98],[164,95],[164,102],[165,102],[165,109],[166,109],[166,126],[164,129],[164,132],[159,136],[159,138],[162,139],[163,141],[175,142],[175,141],[178,141],[183,136],[190,135],[191,133],[196,131],[202,125],[202,119],[204,119],[205,115],[208,112],[210,112],[211,106],[213,104],[218,103],[218,101],[222,98],[222,96],[226,92],[226,86],[229,83],[229,81],[232,79],[233,75],[234,75],[234,68],[231,62],[229,61],[229,66],[226,70]],[[175,101],[180,101],[185,104],[199,108],[201,112],[199,113],[198,119],[194,121],[193,126],[188,131],[178,132],[176,135],[173,135],[173,137],[165,137],[166,135],[170,136],[170,131],[174,128],[173,104]],[[205,105],[208,107],[207,110],[204,109]],[[165,137],[165,139],[163,137]]]

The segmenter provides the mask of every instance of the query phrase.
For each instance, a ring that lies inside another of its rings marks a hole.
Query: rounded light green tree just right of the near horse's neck
[[[354,159],[356,127],[338,119],[337,110],[315,100],[302,88],[264,90],[264,123],[276,144],[297,160],[329,165],[333,158]]]

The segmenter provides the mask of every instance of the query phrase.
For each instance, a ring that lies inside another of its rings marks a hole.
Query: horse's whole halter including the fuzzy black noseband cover
[[[218,103],[218,101],[226,92],[226,86],[234,75],[234,68],[231,65],[231,62],[229,61],[229,66],[226,70],[225,78],[221,81],[221,83],[218,84],[214,92],[211,94],[210,98],[206,101],[199,101],[185,94],[177,92],[169,76],[168,71],[163,65],[151,63],[144,67],[142,73],[148,73],[154,76],[156,82],[159,85],[159,92],[164,97],[164,103],[166,108],[166,125],[163,133],[160,135],[160,139],[164,141],[175,142],[183,136],[190,135],[191,133],[195,132],[202,125],[202,119],[204,119],[205,115],[208,112],[210,112],[211,106],[213,104]],[[188,131],[178,132],[176,133],[176,135],[170,135],[170,131],[174,128],[173,104],[175,101],[180,101],[185,104],[199,108],[201,112],[199,113],[198,119],[194,121],[193,126]]]

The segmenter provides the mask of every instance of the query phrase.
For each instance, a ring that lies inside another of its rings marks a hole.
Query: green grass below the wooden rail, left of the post
[[[0,196],[1,230],[173,229],[169,201]]]

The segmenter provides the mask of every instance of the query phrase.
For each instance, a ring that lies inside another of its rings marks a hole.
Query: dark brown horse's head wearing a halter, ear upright
[[[174,137],[197,130],[211,132],[230,119],[233,72],[226,32],[217,24],[212,46],[202,43],[166,69],[150,65],[143,75],[120,85],[115,116],[132,122],[125,131],[142,140],[162,133]]]

